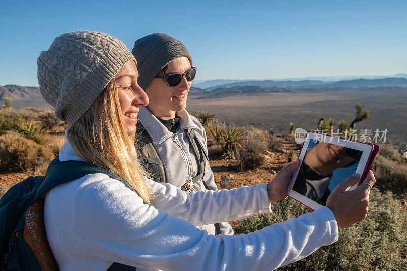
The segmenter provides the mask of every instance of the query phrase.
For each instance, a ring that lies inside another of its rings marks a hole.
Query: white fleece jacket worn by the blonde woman
[[[81,160],[69,143],[59,157]],[[272,270],[338,238],[327,207],[247,235],[208,235],[188,222],[205,225],[270,212],[266,184],[185,193],[148,182],[154,206],[105,174],[53,188],[45,197],[44,222],[60,270],[106,270],[113,262],[138,270]]]

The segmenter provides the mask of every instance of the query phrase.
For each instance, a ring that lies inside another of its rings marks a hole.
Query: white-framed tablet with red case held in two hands
[[[363,183],[377,151],[379,146],[372,143],[308,131],[299,155],[301,166],[287,194],[312,210],[321,208],[331,191],[352,174],[361,178],[350,190]]]

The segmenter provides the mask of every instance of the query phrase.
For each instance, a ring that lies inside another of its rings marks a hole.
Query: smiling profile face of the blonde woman
[[[129,136],[132,136],[136,132],[139,108],[149,103],[146,92],[137,84],[137,77],[137,66],[133,60],[124,65],[114,77],[119,96],[120,109],[122,110],[127,134]]]

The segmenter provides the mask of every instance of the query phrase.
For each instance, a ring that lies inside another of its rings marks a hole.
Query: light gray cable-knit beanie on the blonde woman
[[[129,49],[105,33],[65,33],[38,57],[41,95],[71,127],[130,60]]]

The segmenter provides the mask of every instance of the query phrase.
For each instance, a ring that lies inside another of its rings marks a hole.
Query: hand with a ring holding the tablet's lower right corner
[[[373,172],[369,171],[363,182],[370,185],[362,183],[355,190],[349,191],[358,181],[357,173],[351,175],[338,184],[327,199],[326,207],[331,209],[339,228],[348,228],[367,217],[370,185],[374,185],[376,178]]]

